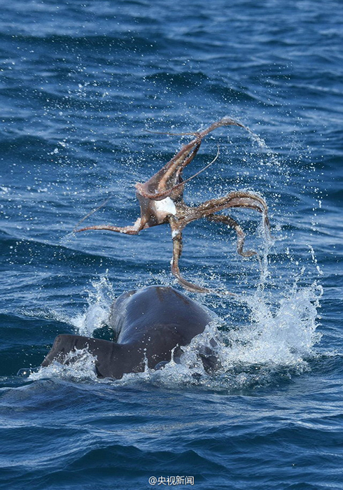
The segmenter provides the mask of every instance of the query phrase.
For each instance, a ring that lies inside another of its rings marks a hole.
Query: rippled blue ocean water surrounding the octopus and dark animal
[[[339,0],[1,1],[0,485],[3,489],[343,489],[342,80]],[[260,193],[260,216],[185,232],[187,279],[238,299],[191,297],[218,315],[181,365],[94,377],[92,358],[41,368],[58,333],[106,335],[113,298],[169,270],[167,226],[127,225],[144,182],[223,116],[186,174],[200,203]],[[197,349],[220,339],[223,369]],[[156,477],[155,485],[149,477]],[[161,479],[165,478],[165,480]],[[169,480],[172,482],[172,480]],[[176,482],[176,480],[174,480]],[[186,484],[187,482],[187,484]]]

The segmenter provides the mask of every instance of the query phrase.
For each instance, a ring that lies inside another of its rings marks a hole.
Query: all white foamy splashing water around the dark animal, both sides
[[[308,360],[314,356],[314,346],[321,339],[316,328],[323,289],[316,283],[300,287],[299,279],[300,276],[278,304],[270,302],[259,287],[253,296],[244,299],[251,311],[245,325],[223,325],[221,318],[214,319],[202,334],[183,347],[181,359],[172,359],[161,370],[151,370],[146,365],[144,372],[125,374],[121,380],[99,380],[94,370],[95,358],[83,349],[69,354],[69,365],[54,362],[32,373],[29,379],[58,377],[110,384],[141,381],[174,388],[195,384],[229,390],[273,384],[280,377],[289,379],[309,370]],[[95,326],[108,315],[112,293],[111,283],[105,276],[92,285],[94,291],[88,309],[78,319],[78,330],[86,335],[91,335]],[[209,349],[218,366],[212,372],[206,370],[202,362]]]

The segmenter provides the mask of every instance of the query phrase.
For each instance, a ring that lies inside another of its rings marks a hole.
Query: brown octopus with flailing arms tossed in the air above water
[[[183,200],[183,190],[185,184],[195,176],[209,167],[217,157],[207,164],[200,172],[197,172],[190,178],[183,180],[183,170],[193,161],[195,155],[200,149],[202,140],[207,134],[216,130],[218,127],[235,125],[243,127],[244,125],[237,120],[225,117],[216,123],[213,123],[207,129],[201,132],[182,133],[189,134],[194,138],[190,143],[182,146],[181,150],[167,162],[155,175],[144,183],[136,183],[137,199],[141,207],[141,216],[130,226],[114,225],[94,225],[74,230],[83,232],[85,230],[110,230],[112,232],[124,233],[125,235],[138,235],[141,230],[146,230],[153,226],[168,224],[172,230],[173,255],[171,260],[172,274],[179,281],[181,286],[186,290],[194,293],[213,293],[209,288],[204,288],[195,283],[187,281],[181,275],[179,269],[179,259],[182,253],[182,234],[188,223],[206,218],[215,223],[223,223],[232,228],[237,233],[237,252],[243,257],[257,255],[253,250],[244,251],[245,234],[241,226],[234,218],[223,214],[221,211],[229,208],[248,208],[258,211],[262,215],[262,223],[265,229],[269,230],[269,218],[267,203],[256,193],[245,190],[232,191],[223,197],[216,197],[198,204],[189,206]],[[166,133],[172,134],[172,133]],[[89,216],[89,214],[87,215]],[[86,217],[87,217],[86,216]],[[83,218],[85,219],[85,218]],[[81,220],[83,221],[83,220]],[[79,222],[80,223],[80,222]],[[79,224],[78,223],[78,224]],[[233,293],[228,293],[233,294]]]

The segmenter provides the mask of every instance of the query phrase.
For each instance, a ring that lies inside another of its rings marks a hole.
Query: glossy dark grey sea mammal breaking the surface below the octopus
[[[87,349],[96,358],[99,378],[121,379],[125,373],[143,372],[146,364],[160,369],[180,358],[182,346],[204,332],[211,312],[171,287],[149,286],[120,295],[111,307],[109,323],[114,342],[80,335],[57,335],[43,360],[48,366],[57,360],[72,363],[69,353]],[[201,356],[211,370],[216,359],[210,348]]]

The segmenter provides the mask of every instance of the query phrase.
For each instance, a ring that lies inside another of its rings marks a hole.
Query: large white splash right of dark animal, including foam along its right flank
[[[197,384],[211,388],[252,388],[289,379],[309,370],[314,345],[321,339],[316,332],[317,309],[323,293],[314,283],[307,288],[294,284],[273,311],[259,289],[246,302],[250,322],[243,327],[226,325],[224,331],[214,322],[183,347],[181,363],[169,363],[160,372],[147,370],[144,379],[157,384]],[[214,347],[215,345],[215,347]],[[211,347],[221,367],[208,373],[202,353]]]

